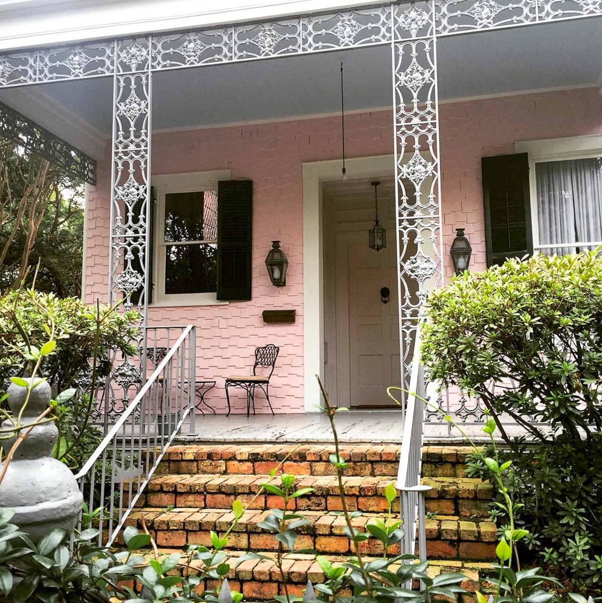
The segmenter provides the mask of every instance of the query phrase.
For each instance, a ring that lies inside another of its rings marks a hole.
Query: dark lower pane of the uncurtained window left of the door
[[[215,292],[217,245],[171,245],[165,250],[165,294]]]

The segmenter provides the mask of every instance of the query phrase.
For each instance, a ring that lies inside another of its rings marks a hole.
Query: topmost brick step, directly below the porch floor
[[[334,475],[329,463],[334,446],[325,444],[249,444],[171,446],[157,468],[162,475],[212,473],[262,475],[284,461],[282,470],[294,475]],[[468,446],[427,446],[422,453],[426,476],[463,477]],[[363,476],[396,476],[400,447],[396,445],[353,444],[340,447],[341,456],[352,463],[347,473]]]

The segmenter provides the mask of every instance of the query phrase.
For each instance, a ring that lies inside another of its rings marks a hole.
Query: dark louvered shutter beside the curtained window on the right
[[[533,254],[527,153],[481,158],[487,266]]]

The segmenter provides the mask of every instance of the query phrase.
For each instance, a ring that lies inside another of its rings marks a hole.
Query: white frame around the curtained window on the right
[[[529,194],[533,251],[540,252],[542,249],[553,250],[555,247],[571,247],[570,244],[566,243],[541,245],[539,242],[539,216],[537,215],[535,164],[548,161],[566,161],[571,159],[592,159],[594,157],[602,157],[602,135],[591,134],[589,136],[525,140],[524,142],[515,142],[514,149],[515,153],[527,153],[529,156]],[[602,245],[602,241],[592,241],[589,245]]]

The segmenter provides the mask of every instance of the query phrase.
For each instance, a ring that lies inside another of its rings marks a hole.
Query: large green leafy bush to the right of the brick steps
[[[428,300],[422,361],[524,426],[534,449],[501,430],[517,520],[559,575],[602,586],[602,259],[537,255],[456,277]]]

